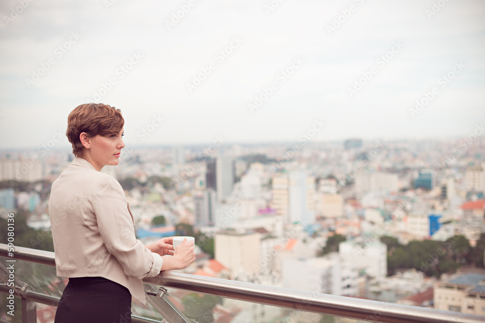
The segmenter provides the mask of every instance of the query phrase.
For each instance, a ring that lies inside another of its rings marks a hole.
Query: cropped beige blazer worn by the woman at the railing
[[[142,278],[157,276],[163,259],[135,238],[116,179],[75,158],[52,184],[49,217],[57,276],[104,277],[146,304]]]

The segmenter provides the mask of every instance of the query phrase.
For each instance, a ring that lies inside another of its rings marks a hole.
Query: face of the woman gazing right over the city
[[[121,148],[125,147],[123,142],[123,128],[117,134],[101,136],[96,135],[90,138],[90,148],[84,154],[86,159],[97,169],[101,170],[106,165],[118,165]]]

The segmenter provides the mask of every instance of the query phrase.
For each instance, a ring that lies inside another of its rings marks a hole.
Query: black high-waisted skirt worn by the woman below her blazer
[[[131,294],[103,277],[69,278],[54,323],[131,323]]]

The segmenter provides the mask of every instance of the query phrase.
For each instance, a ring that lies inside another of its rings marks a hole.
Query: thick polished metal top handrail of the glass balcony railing
[[[0,244],[0,257],[7,257],[7,246]],[[15,258],[55,265],[53,252],[16,247]],[[367,299],[270,287],[241,281],[164,271],[146,277],[145,283],[187,291],[202,292],[242,301],[291,308],[319,314],[382,323],[483,323],[485,317],[385,303]]]

